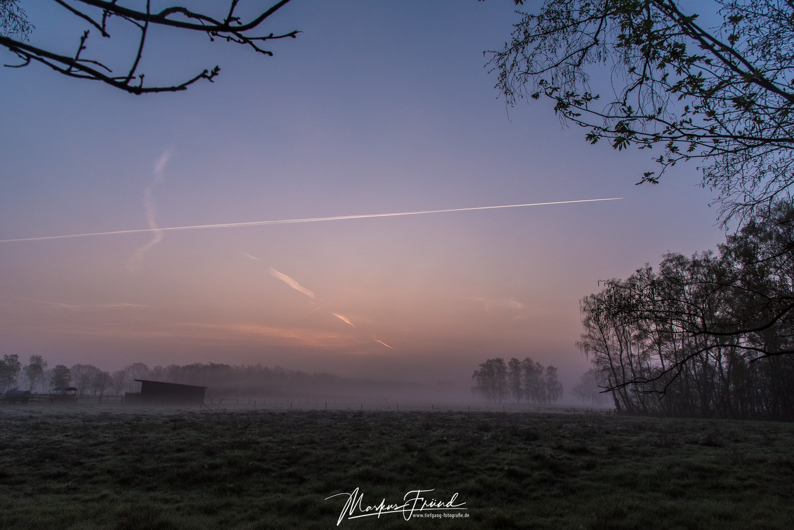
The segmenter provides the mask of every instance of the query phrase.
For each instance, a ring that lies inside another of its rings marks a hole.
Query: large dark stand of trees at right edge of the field
[[[794,207],[780,201],[716,252],[668,253],[584,298],[579,346],[615,407],[794,420],[792,251]]]

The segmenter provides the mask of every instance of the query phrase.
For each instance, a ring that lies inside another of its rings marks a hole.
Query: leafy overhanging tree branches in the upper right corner
[[[741,224],[794,184],[794,2],[709,3],[714,29],[674,0],[546,0],[490,52],[496,87],[509,105],[550,99],[592,143],[663,149],[638,184],[703,161],[723,222]],[[599,103],[590,80],[606,68],[614,94]]]

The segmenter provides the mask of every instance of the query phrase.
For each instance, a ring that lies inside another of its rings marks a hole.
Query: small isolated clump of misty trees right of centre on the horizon
[[[476,381],[472,393],[493,403],[512,397],[516,403],[550,404],[563,394],[562,384],[557,381],[557,368],[544,367],[528,357],[523,361],[511,358],[507,363],[500,357],[488,359],[480,364],[480,369],[474,370],[472,380]]]

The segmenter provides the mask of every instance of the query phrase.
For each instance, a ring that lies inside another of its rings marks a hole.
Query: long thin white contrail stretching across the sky
[[[318,221],[341,221],[342,219],[368,219],[372,217],[396,217],[397,215],[422,215],[422,214],[444,214],[449,211],[473,211],[473,210],[496,210],[497,208],[519,208],[526,206],[546,206],[549,204],[570,204],[570,203],[595,203],[602,200],[620,200],[622,197],[612,197],[611,199],[582,199],[582,200],[560,200],[553,203],[530,203],[530,204],[507,204],[505,206],[479,206],[473,208],[451,208],[449,210],[425,210],[425,211],[400,211],[394,214],[364,214],[364,215],[339,215],[338,217],[310,217],[306,219],[281,219],[279,221],[253,221],[253,222],[225,222],[217,225],[195,225],[195,226],[168,226],[166,228],[141,228],[138,230],[114,230],[112,232],[92,232],[90,234],[69,234],[69,235],[48,235],[40,238],[17,238],[0,239],[0,243],[10,243],[17,241],[43,241],[44,239],[67,239],[67,238],[87,238],[94,235],[116,235],[116,234],[143,234],[145,232],[166,232],[170,230],[196,230],[201,228],[238,228],[241,226],[268,226],[268,225],[287,225],[294,222],[318,222]]]

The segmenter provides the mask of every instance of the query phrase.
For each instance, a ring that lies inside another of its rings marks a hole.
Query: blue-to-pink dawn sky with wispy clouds
[[[23,2],[30,41],[71,53],[83,24],[49,3]],[[266,31],[302,33],[272,57],[156,31],[148,82],[221,66],[175,94],[0,68],[0,239],[622,197],[0,242],[0,354],[456,385],[531,357],[570,388],[588,369],[580,299],[724,233],[695,164],[636,186],[653,153],[589,145],[543,101],[505,106],[484,51],[514,10],[293,0]],[[115,27],[86,56],[124,64]]]

